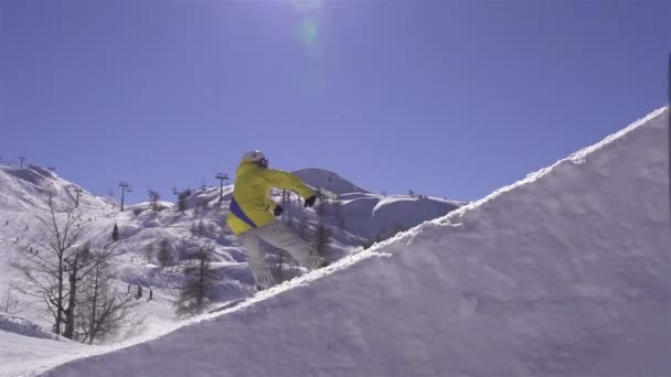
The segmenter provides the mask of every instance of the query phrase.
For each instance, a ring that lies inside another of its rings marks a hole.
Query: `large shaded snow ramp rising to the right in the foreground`
[[[669,376],[668,117],[241,306],[45,376]]]

